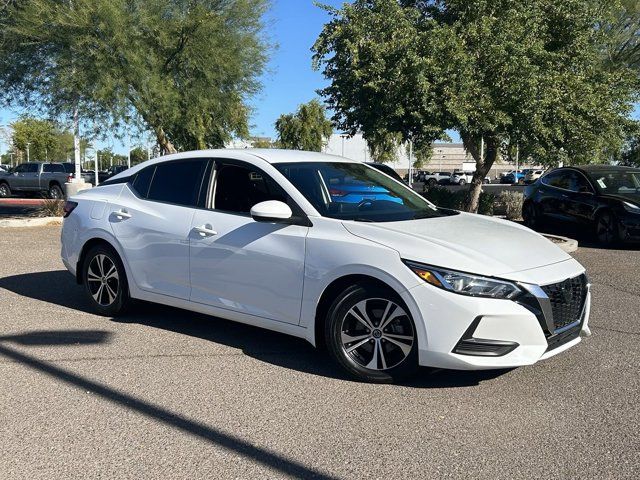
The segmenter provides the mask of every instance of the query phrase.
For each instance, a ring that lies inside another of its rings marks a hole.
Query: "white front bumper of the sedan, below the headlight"
[[[521,285],[539,292],[536,285]],[[558,329],[551,323],[551,330],[548,308],[545,317],[542,309],[534,313],[511,300],[468,297],[426,283],[405,292],[403,299],[420,321],[420,365],[481,370],[531,365],[578,344],[581,332],[590,333],[591,293],[588,284],[585,288],[579,315]]]

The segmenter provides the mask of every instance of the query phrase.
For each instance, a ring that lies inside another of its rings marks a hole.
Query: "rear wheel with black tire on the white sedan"
[[[115,317],[126,311],[131,299],[124,265],[109,245],[96,245],[87,253],[82,276],[94,309],[103,316]]]

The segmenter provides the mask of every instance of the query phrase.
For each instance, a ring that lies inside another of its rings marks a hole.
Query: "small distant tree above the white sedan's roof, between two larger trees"
[[[296,113],[280,115],[275,127],[281,148],[313,152],[321,151],[333,132],[331,121],[317,100],[300,105]]]

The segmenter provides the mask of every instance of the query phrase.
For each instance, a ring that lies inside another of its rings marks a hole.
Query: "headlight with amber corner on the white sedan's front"
[[[506,280],[481,277],[410,261],[404,263],[425,282],[461,295],[513,299],[522,293],[516,284]]]

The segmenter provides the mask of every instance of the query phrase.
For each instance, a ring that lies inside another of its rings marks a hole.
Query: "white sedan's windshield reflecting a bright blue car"
[[[321,215],[362,222],[395,222],[451,215],[400,182],[362,163],[274,165]]]

